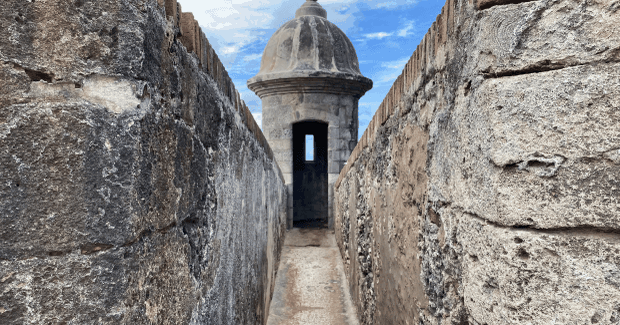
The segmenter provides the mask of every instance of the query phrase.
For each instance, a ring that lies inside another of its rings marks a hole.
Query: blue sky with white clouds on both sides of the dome
[[[180,0],[218,53],[243,100],[261,125],[260,99],[246,81],[258,73],[273,33],[305,0]],[[353,42],[362,74],[374,87],[359,104],[361,137],[445,0],[319,0],[327,19]]]

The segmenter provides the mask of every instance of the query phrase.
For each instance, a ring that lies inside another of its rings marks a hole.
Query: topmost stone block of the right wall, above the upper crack
[[[515,75],[620,60],[614,1],[533,1],[482,11],[466,70]]]

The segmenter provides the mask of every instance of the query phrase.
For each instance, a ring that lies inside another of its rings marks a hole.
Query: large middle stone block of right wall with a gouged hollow
[[[619,71],[593,64],[485,81],[473,98],[478,110],[457,100],[458,137],[441,136],[436,157],[458,158],[433,164],[456,172],[434,168],[437,188],[503,225],[618,228],[618,166],[606,154],[620,143]],[[452,189],[439,185],[446,181]]]

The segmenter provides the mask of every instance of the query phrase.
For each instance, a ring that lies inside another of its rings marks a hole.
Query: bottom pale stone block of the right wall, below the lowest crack
[[[464,214],[463,295],[489,324],[614,324],[620,320],[616,235],[496,227]]]

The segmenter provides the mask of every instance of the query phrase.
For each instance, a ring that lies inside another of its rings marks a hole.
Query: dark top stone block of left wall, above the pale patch
[[[148,76],[152,66],[141,63],[145,53],[152,53],[150,45],[164,35],[162,18],[147,15],[141,3],[100,1],[76,6],[63,1],[8,0],[3,4],[0,29],[10,35],[0,40],[0,61],[50,81],[77,82],[91,74],[159,77]],[[144,29],[144,24],[149,28]],[[80,32],[65,33],[68,30]]]

